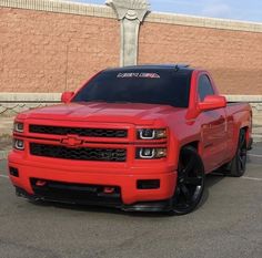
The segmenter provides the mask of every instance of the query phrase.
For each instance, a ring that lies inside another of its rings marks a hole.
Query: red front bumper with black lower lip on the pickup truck
[[[11,173],[13,168],[16,173]],[[127,167],[113,171],[107,166],[88,166],[83,171],[78,166],[61,167],[52,163],[22,159],[14,152],[9,155],[9,169],[10,179],[19,196],[141,211],[169,210],[178,176],[169,167],[152,164],[147,168]],[[160,184],[159,187],[141,188],[138,186],[140,180],[159,180]],[[114,190],[108,193],[105,188]]]

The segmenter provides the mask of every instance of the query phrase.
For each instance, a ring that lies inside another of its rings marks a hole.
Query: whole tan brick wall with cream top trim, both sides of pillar
[[[33,10],[33,0],[2,2],[0,92],[74,90],[119,65],[120,22],[111,8],[41,0]],[[224,94],[261,95],[261,32],[260,23],[152,12],[140,28],[138,61],[202,66]]]

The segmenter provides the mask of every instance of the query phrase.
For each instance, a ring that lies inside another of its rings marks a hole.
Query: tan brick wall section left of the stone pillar
[[[0,8],[0,92],[75,90],[119,64],[115,19]]]

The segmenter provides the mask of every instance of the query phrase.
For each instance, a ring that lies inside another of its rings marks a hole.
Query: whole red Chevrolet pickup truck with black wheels
[[[19,196],[182,215],[199,205],[205,174],[245,172],[251,107],[226,103],[204,70],[109,69],[62,102],[16,117],[8,159]]]

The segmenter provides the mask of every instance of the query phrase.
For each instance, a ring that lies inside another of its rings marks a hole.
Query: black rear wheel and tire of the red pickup
[[[228,175],[234,177],[243,176],[246,167],[246,157],[248,157],[248,145],[245,138],[245,131],[241,130],[239,134],[238,148],[233,159],[231,161]]]

